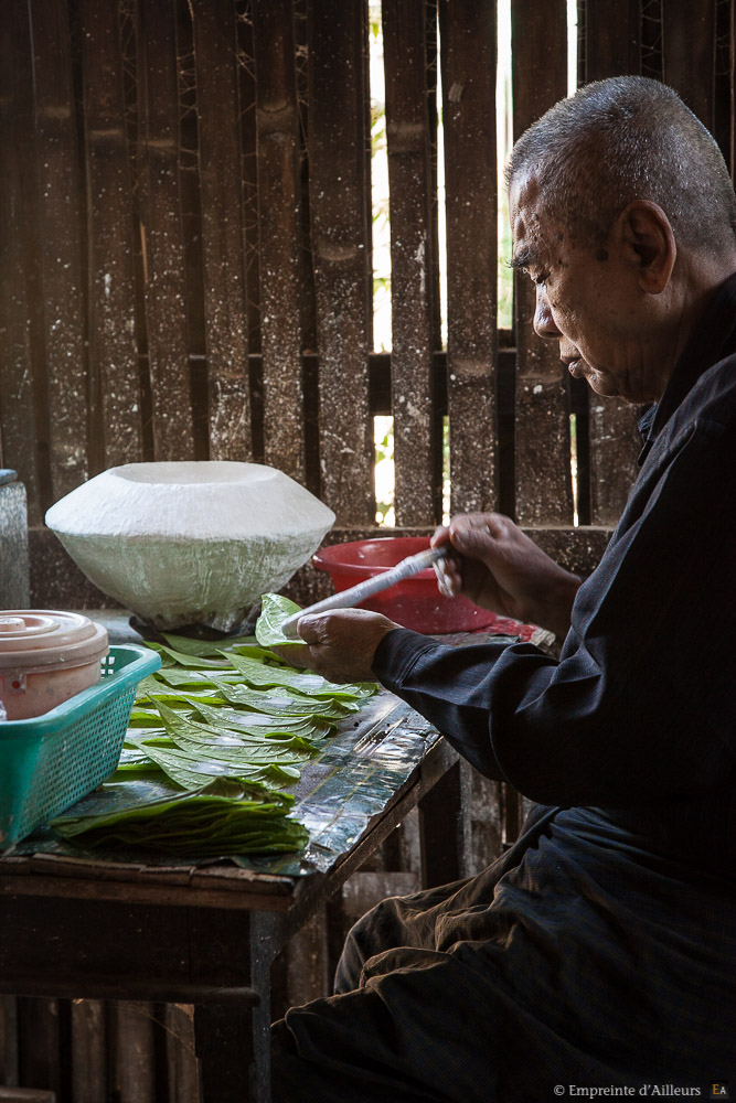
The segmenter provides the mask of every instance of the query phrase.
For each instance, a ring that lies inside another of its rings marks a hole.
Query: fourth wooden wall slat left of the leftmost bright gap
[[[157,460],[194,459],[173,0],[139,6],[139,204]]]

